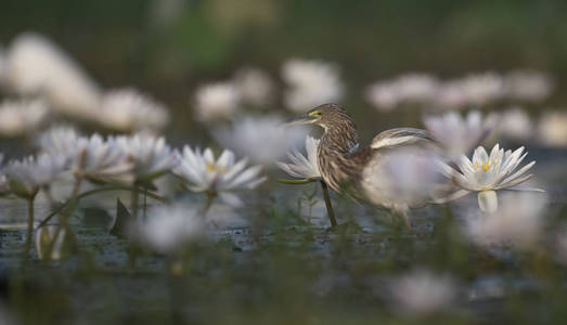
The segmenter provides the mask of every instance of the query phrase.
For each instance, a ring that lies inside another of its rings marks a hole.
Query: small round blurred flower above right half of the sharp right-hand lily
[[[510,108],[500,115],[497,133],[510,140],[528,140],[534,131],[533,122],[526,110]]]

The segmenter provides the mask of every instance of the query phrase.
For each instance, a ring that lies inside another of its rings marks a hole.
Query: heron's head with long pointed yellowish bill
[[[293,125],[318,125],[325,130],[336,126],[352,125],[352,119],[345,109],[336,104],[323,104],[306,114],[292,118],[287,121],[288,126]]]

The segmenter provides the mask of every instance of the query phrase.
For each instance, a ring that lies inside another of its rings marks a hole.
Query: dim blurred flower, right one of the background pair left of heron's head
[[[274,84],[270,76],[258,68],[244,68],[236,73],[234,84],[243,103],[266,107],[272,101]]]

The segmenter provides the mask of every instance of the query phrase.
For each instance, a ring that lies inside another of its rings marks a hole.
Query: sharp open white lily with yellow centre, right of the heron
[[[538,191],[537,188],[517,188],[516,185],[527,181],[532,174],[526,172],[536,164],[528,165],[516,170],[521,160],[528,153],[524,153],[524,147],[512,152],[504,152],[498,144],[494,145],[490,155],[482,146],[475,150],[473,159],[466,156],[461,157],[459,164],[460,171],[446,166],[446,176],[450,177],[466,194],[468,192],[478,193],[478,205],[482,211],[494,212],[498,209],[499,190],[520,190]]]

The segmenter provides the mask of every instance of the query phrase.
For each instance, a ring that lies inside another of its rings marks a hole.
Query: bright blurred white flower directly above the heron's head
[[[289,60],[282,66],[282,77],[289,87],[285,105],[294,112],[338,102],[345,92],[338,67],[321,61]]]

